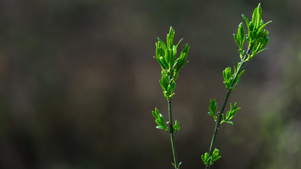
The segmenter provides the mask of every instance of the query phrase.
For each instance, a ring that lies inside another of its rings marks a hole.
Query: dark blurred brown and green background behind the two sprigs
[[[173,168],[155,56],[169,27],[189,43],[173,119],[181,168],[204,168],[226,95],[222,70],[236,66],[233,33],[259,1],[0,1],[0,168]],[[301,1],[262,0],[269,48],[244,69],[230,102],[241,109],[220,127],[221,159],[210,167],[301,168]],[[245,25],[245,23],[244,23]],[[246,26],[246,25],[245,25]],[[246,43],[245,43],[246,44]]]

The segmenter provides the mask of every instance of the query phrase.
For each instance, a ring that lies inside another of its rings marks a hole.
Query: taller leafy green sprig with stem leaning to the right
[[[224,109],[227,104],[227,100],[229,98],[230,93],[235,89],[235,85],[238,84],[240,81],[240,76],[245,72],[245,70],[242,70],[243,65],[246,62],[249,62],[254,55],[258,54],[259,52],[268,49],[264,48],[267,43],[269,42],[270,38],[267,37],[269,32],[267,30],[263,30],[263,28],[270,22],[263,23],[261,19],[261,6],[260,3],[257,8],[255,8],[252,16],[252,21],[249,22],[248,18],[245,15],[242,15],[244,20],[246,21],[246,25],[248,28],[248,34],[245,35],[245,29],[242,23],[239,24],[238,26],[238,32],[237,34],[234,35],[234,39],[236,44],[239,47],[238,53],[240,54],[240,59],[241,61],[238,63],[237,68],[234,67],[234,74],[231,72],[231,68],[228,67],[223,71],[223,76],[224,76],[224,84],[227,89],[227,95],[224,99],[224,103],[222,105],[222,109],[219,112],[216,112],[217,110],[217,103],[215,103],[215,99],[211,100],[210,99],[210,105],[209,105],[209,111],[208,114],[211,115],[214,118],[214,121],[216,122],[215,129],[214,129],[214,134],[210,146],[209,153],[205,153],[205,155],[202,155],[202,160],[204,161],[204,164],[206,165],[206,169],[208,169],[214,161],[219,159],[221,156],[218,156],[219,150],[214,149],[214,142],[215,138],[217,135],[217,132],[219,130],[219,126],[224,124],[224,123],[230,123],[233,125],[233,122],[230,121],[237,113],[237,111],[240,108],[237,107],[237,102],[235,103],[234,106],[230,104],[230,110],[227,111],[226,116],[224,115]],[[243,44],[245,40],[249,43],[247,51],[243,50]],[[217,115],[219,116],[217,117]],[[223,118],[223,120],[221,120]]]

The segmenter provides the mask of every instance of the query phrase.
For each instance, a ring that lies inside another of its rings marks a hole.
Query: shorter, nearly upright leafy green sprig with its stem
[[[168,102],[168,116],[169,121],[165,123],[163,116],[160,114],[159,110],[155,108],[155,111],[152,111],[153,116],[155,117],[155,122],[158,124],[156,128],[164,129],[167,133],[170,134],[171,142],[172,142],[172,153],[174,158],[174,163],[172,165],[178,169],[182,162],[178,163],[177,159],[177,151],[175,145],[175,134],[180,129],[179,122],[176,120],[175,125],[172,123],[172,93],[176,88],[176,79],[179,77],[178,73],[180,69],[188,63],[186,61],[187,54],[189,51],[189,46],[186,44],[182,47],[182,52],[177,56],[177,47],[182,41],[175,46],[173,45],[175,31],[170,27],[169,33],[167,34],[167,46],[165,43],[158,38],[158,43],[156,42],[156,57],[154,57],[159,64],[161,65],[162,78],[159,80],[160,85],[163,89],[163,94]],[[169,128],[167,124],[169,123]]]

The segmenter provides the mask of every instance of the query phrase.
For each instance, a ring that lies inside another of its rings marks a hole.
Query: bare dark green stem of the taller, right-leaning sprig
[[[216,121],[215,129],[214,129],[214,133],[213,133],[213,137],[212,137],[212,141],[211,141],[211,146],[210,146],[210,150],[209,150],[209,157],[212,156],[215,138],[216,138],[216,135],[217,135],[217,131],[219,130],[219,126],[220,126],[220,120],[222,119],[222,114],[224,113],[224,109],[225,109],[225,106],[227,104],[228,98],[230,96],[230,93],[232,92],[233,85],[235,83],[235,80],[238,77],[238,74],[240,74],[240,70],[241,70],[242,66],[245,64],[246,57],[250,53],[250,51],[251,51],[251,49],[248,49],[245,56],[244,56],[244,58],[241,60],[240,66],[238,67],[238,69],[236,71],[236,74],[234,75],[233,82],[230,85],[230,91],[227,91],[227,95],[225,97],[225,100],[224,100],[224,103],[223,103],[223,106],[222,106],[222,110],[220,111],[219,118]],[[209,167],[210,167],[210,162],[209,162],[208,165],[206,165],[206,169],[209,169]]]

